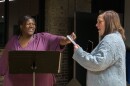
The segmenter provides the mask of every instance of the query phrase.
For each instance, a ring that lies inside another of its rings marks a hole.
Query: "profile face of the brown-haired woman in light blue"
[[[99,36],[103,36],[105,32],[105,21],[103,19],[103,15],[98,16],[96,27],[98,29]]]

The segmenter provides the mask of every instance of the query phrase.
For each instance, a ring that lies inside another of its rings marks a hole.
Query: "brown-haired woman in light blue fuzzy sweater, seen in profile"
[[[125,35],[118,13],[101,13],[96,27],[101,41],[91,53],[74,46],[73,59],[87,69],[86,86],[126,86]]]

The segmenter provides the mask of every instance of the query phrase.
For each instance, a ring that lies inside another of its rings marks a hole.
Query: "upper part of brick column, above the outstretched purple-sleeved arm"
[[[45,30],[55,34],[67,34],[68,0],[46,0]]]

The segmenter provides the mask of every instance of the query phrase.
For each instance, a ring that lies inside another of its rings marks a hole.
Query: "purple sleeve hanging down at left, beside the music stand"
[[[12,39],[8,41],[0,57],[0,75],[5,75],[8,72],[8,51],[10,50],[12,42]]]

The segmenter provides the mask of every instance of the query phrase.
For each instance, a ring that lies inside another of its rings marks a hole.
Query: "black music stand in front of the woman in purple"
[[[10,74],[59,73],[61,53],[59,51],[9,51]]]

